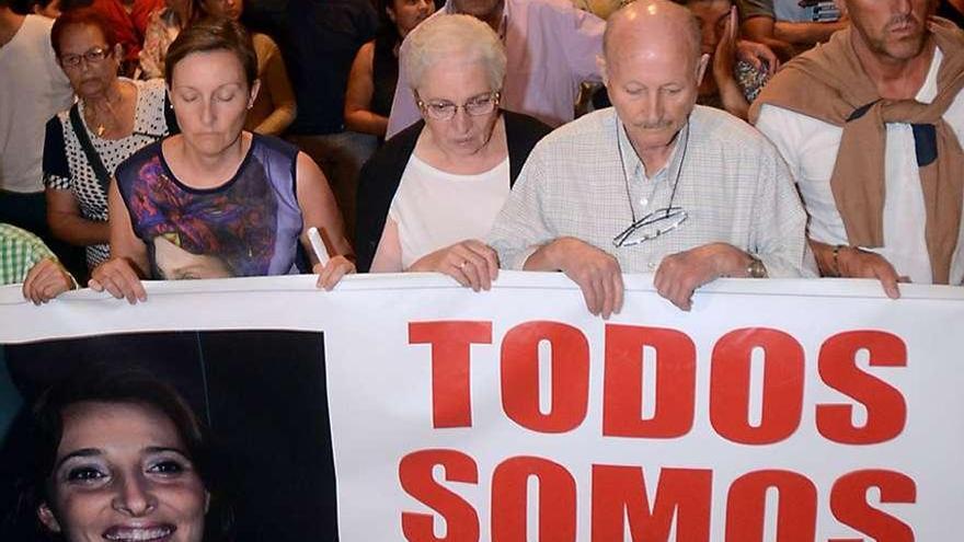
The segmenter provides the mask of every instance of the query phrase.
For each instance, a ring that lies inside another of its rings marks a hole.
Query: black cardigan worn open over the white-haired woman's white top
[[[532,147],[552,131],[552,128],[519,113],[505,111],[503,116],[508,146],[509,184],[515,184]],[[375,251],[385,230],[388,209],[424,126],[425,122],[418,120],[400,131],[362,168],[358,175],[358,223],[355,227],[355,252],[359,273],[368,273],[371,267]]]

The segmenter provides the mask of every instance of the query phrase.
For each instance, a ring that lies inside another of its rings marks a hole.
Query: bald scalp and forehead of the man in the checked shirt
[[[609,18],[602,56],[610,62],[616,50],[653,45],[685,47],[696,66],[701,39],[700,23],[685,7],[668,0],[638,0]]]

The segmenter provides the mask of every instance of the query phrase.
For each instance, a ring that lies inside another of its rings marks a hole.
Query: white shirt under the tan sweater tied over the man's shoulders
[[[915,99],[930,103],[937,96],[938,69],[943,55],[934,50],[930,71]],[[964,141],[964,93],[944,112],[959,140]],[[844,219],[830,189],[830,175],[844,129],[781,107],[764,105],[757,128],[767,135],[787,160],[806,212],[810,238],[827,244],[847,244]],[[888,123],[884,164],[884,246],[873,249],[898,275],[918,284],[933,282],[925,239],[926,211],[914,131],[909,124]],[[964,221],[962,221],[964,224]],[[964,284],[964,230],[951,261],[952,285]]]

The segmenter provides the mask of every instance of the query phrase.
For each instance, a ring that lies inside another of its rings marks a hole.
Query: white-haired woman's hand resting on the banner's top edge
[[[482,241],[468,239],[423,256],[408,270],[444,273],[466,288],[489,290],[498,276],[498,255]]]

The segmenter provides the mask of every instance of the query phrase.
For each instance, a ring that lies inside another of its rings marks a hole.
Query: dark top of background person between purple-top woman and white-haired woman
[[[375,37],[378,15],[369,0],[290,0],[282,43],[298,103],[291,134],[345,129],[345,89],[362,45]]]

